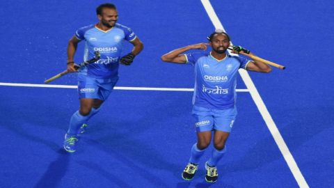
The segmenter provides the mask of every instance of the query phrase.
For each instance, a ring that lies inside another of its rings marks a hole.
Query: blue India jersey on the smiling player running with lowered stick
[[[94,24],[84,26],[75,32],[75,36],[86,42],[84,61],[93,58],[95,51],[100,52],[101,58],[99,61],[79,70],[80,74],[97,79],[118,77],[118,61],[122,52],[123,40],[132,41],[136,39],[136,34],[121,24],[116,24],[108,31],[102,31]]]

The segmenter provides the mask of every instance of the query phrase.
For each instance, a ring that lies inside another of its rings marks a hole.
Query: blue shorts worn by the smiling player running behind
[[[79,99],[99,99],[106,100],[113,87],[116,85],[118,77],[112,79],[95,79],[86,75],[78,74],[78,94]]]

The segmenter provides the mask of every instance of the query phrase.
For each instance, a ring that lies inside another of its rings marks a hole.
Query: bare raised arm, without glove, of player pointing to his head
[[[178,49],[174,49],[171,52],[168,52],[167,54],[164,54],[161,56],[161,60],[165,62],[170,62],[170,63],[186,63],[186,56],[184,56],[184,52],[188,51],[189,49],[207,49],[208,43],[198,43],[196,45],[189,45],[186,47],[180,47]]]

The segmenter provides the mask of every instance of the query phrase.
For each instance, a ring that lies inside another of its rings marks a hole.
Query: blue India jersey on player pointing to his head
[[[218,61],[211,54],[184,54],[195,66],[193,104],[207,109],[234,107],[239,68],[246,69],[247,58],[227,55]]]

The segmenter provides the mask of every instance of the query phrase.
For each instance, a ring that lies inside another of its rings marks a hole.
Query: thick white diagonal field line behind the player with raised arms
[[[212,7],[209,0],[201,0],[202,4],[207,11],[207,14],[209,15],[212,23],[214,24],[214,27],[217,29],[225,29],[223,28],[223,25],[219,21],[216,13],[214,12],[214,8]],[[282,153],[285,161],[287,162],[287,165],[289,166],[290,171],[294,175],[294,178],[296,179],[296,182],[298,183],[299,187],[309,187],[308,183],[305,181],[305,178],[301,174],[301,171],[299,170],[299,167],[296,164],[296,161],[294,160],[294,157],[292,157],[291,152],[289,151],[289,148],[287,148],[287,144],[285,143],[283,137],[281,136],[280,132],[278,131],[278,128],[276,127],[276,124],[273,122],[273,118],[271,118],[271,115],[262,101],[262,98],[257,91],[252,79],[250,79],[248,72],[246,70],[239,70],[239,74],[241,75],[241,78],[244,80],[250,95],[253,97],[253,100],[257,106],[257,109],[259,109],[262,118],[264,119],[264,122],[267,124],[267,127],[269,131],[271,132],[271,135],[273,136],[273,139],[276,141],[276,144],[278,148],[280,149],[280,152]]]

